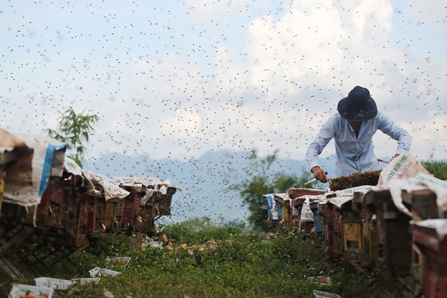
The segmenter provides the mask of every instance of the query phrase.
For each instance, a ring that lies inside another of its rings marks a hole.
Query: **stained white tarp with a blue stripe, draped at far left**
[[[0,142],[0,147],[5,147],[3,140]],[[17,161],[8,167],[3,200],[22,206],[37,205],[50,176],[62,176],[66,145],[45,136],[15,135],[13,146],[18,151]]]

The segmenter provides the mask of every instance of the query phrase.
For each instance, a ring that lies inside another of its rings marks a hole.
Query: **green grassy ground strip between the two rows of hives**
[[[98,285],[74,285],[53,297],[313,297],[312,290],[361,297],[371,283],[342,262],[329,262],[312,237],[298,232],[257,232],[240,226],[190,220],[166,225],[146,246],[141,235],[107,234],[95,245],[59,263],[51,277],[89,277],[105,267],[119,276],[103,276]],[[126,267],[111,267],[107,257],[131,257]],[[330,285],[308,281],[330,276]],[[50,276],[49,276],[50,277]],[[374,297],[374,293],[369,293]],[[379,296],[377,296],[379,297]]]

